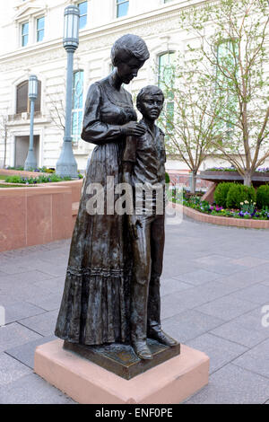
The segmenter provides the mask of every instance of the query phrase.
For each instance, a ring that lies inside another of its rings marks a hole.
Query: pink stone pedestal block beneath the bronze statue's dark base
[[[35,373],[83,404],[177,404],[208,383],[209,357],[181,345],[175,356],[126,380],[63,348],[63,340],[37,347]]]

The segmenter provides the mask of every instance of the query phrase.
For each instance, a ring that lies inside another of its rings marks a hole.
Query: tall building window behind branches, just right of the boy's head
[[[175,62],[176,53],[174,51],[168,51],[167,53],[159,56],[158,64],[158,85],[164,92],[166,100],[162,110],[162,118],[166,121],[165,131],[169,136],[169,131],[172,129],[171,122],[174,119],[174,94],[172,89],[169,91],[169,87],[172,88],[174,84],[173,76],[173,65]]]

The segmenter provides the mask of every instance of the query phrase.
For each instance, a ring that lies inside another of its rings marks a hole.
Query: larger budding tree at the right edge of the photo
[[[199,40],[188,51],[215,87],[213,103],[223,105],[206,110],[218,122],[213,143],[249,186],[269,157],[269,1],[208,2],[183,12],[180,25]]]

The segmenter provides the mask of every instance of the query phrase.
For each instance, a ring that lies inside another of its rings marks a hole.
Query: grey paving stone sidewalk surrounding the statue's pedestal
[[[0,403],[74,403],[32,369],[54,338],[69,244],[0,253]],[[161,295],[164,330],[211,359],[209,385],[187,403],[269,404],[269,232],[168,225]]]

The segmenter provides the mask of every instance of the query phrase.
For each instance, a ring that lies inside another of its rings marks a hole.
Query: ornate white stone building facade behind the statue
[[[204,0],[206,1],[206,0]],[[28,79],[39,79],[35,107],[34,146],[39,166],[55,167],[65,126],[66,53],[64,11],[80,9],[80,44],[74,54],[72,136],[78,168],[84,170],[94,145],[80,138],[88,87],[112,69],[110,48],[126,33],[141,36],[151,53],[138,76],[127,86],[134,96],[146,84],[158,84],[161,66],[190,39],[179,29],[179,13],[202,0],[9,0],[0,2],[0,166],[23,165],[29,145]],[[191,40],[192,41],[192,40]],[[195,41],[194,41],[195,42]],[[173,107],[173,104],[168,104]],[[4,129],[3,129],[4,127]],[[4,147],[4,137],[6,138]],[[202,170],[215,164],[208,158]],[[167,168],[187,165],[171,157]]]

